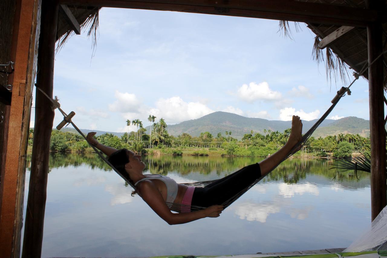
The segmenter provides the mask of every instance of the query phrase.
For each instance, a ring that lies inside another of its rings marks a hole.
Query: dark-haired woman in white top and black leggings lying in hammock
[[[87,141],[109,156],[109,162],[123,175],[128,175],[136,186],[136,193],[168,224],[183,224],[205,217],[219,217],[224,201],[246,189],[255,180],[268,174],[300,141],[302,122],[293,115],[291,133],[288,142],[276,153],[259,163],[248,165],[233,174],[218,179],[205,187],[193,187],[177,184],[163,175],[142,174],[145,163],[140,155],[127,149],[116,150],[98,143],[93,138],[95,132],[87,134]],[[166,203],[182,205],[180,213],[172,213]],[[191,211],[190,206],[207,207]],[[187,209],[188,207],[188,209]]]

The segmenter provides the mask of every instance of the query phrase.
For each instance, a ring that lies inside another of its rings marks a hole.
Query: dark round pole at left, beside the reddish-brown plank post
[[[43,0],[39,38],[37,85],[48,96],[53,94],[55,41],[57,38],[58,2]],[[51,102],[36,90],[35,128],[31,174],[27,200],[22,257],[40,257],[46,205],[48,160],[54,111]]]

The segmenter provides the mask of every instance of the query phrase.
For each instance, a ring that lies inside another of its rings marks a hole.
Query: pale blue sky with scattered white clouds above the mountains
[[[134,9],[103,8],[93,52],[86,32],[55,56],[54,95],[81,129],[126,132],[216,111],[269,120],[319,118],[342,85],[329,83],[312,60],[315,35],[300,23],[293,40],[279,21]],[[351,71],[351,70],[350,70]],[[348,81],[352,81],[350,75]],[[329,119],[369,119],[368,82],[351,86]],[[33,101],[34,107],[34,101]],[[34,125],[34,109],[31,127]],[[56,111],[54,127],[62,121]],[[130,130],[134,130],[130,126]]]

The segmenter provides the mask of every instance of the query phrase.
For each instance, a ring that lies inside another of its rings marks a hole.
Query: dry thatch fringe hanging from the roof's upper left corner
[[[97,33],[99,32],[99,8],[95,10],[92,14],[90,14],[86,20],[80,25],[80,28],[83,31],[87,31],[87,37],[92,40],[92,49],[93,49],[93,54],[95,47],[97,46]],[[56,52],[59,52],[62,47],[65,45],[67,40],[73,36],[75,33],[74,31],[70,30],[67,31],[62,37],[59,38],[58,43],[57,43],[57,48]]]

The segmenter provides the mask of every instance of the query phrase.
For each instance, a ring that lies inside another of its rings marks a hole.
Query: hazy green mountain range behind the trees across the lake
[[[312,127],[317,119],[311,121],[303,121],[303,133],[307,132]],[[283,132],[285,129],[291,127],[291,121],[267,120],[261,118],[243,117],[228,112],[214,112],[198,119],[188,120],[179,124],[168,125],[167,131],[170,135],[178,136],[186,132],[192,136],[199,136],[201,132],[210,132],[212,136],[216,137],[220,132],[226,136],[225,132],[231,131],[233,138],[241,139],[244,134],[259,132],[264,134],[264,129],[271,131]],[[149,126],[146,127],[149,131]],[[80,129],[84,134],[88,132],[97,132],[97,136],[106,133],[105,131],[96,131],[89,129]],[[73,128],[63,128],[62,131],[76,132]],[[121,137],[123,132],[108,132]],[[315,138],[327,135],[338,134],[360,134],[361,136],[370,135],[369,120],[358,117],[344,117],[339,120],[325,119],[319,128],[312,134]]]

